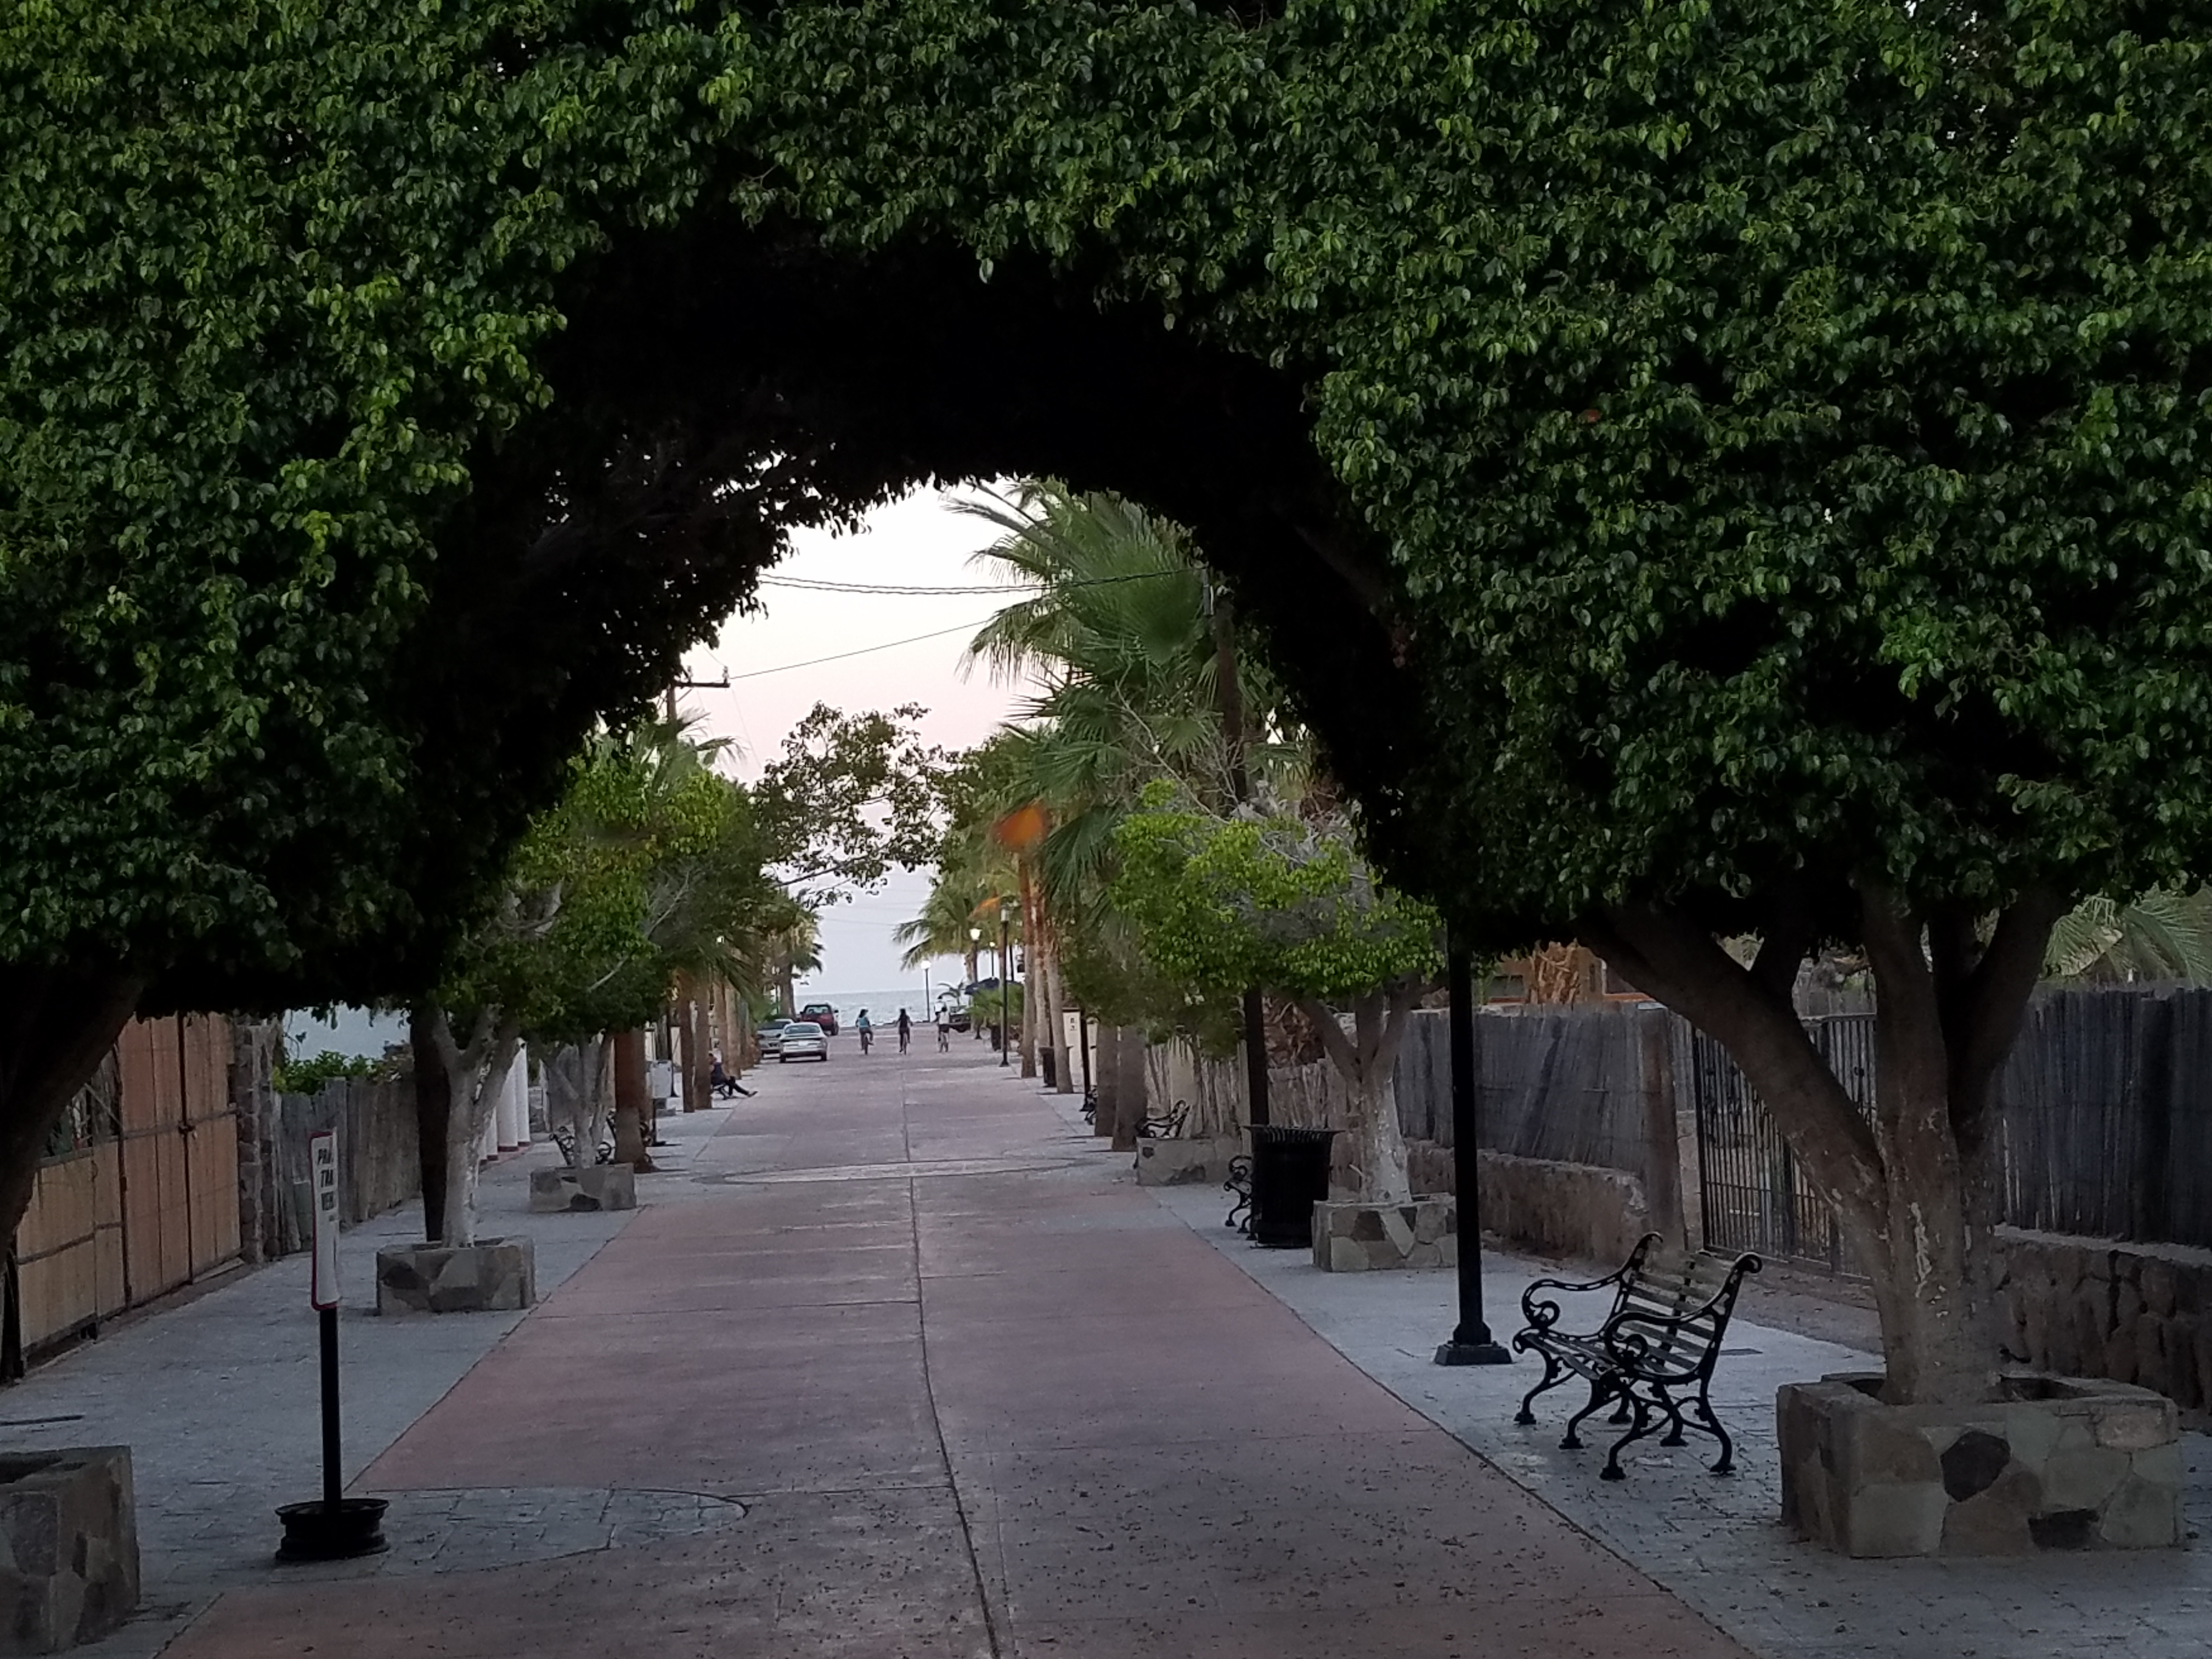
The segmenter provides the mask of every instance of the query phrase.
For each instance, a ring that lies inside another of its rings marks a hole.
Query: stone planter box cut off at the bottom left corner
[[[137,1608],[131,1447],[0,1458],[0,1652],[60,1652]]]

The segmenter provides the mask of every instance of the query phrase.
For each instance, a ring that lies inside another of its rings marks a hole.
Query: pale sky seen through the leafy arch
[[[993,526],[953,513],[938,491],[918,491],[878,509],[854,535],[799,533],[792,555],[763,577],[765,613],[732,617],[712,650],[695,650],[686,659],[690,679],[728,675],[730,688],[686,690],[679,708],[701,717],[706,737],[726,737],[737,745],[734,770],[745,779],[759,776],[763,761],[783,748],[785,732],[818,701],[847,712],[922,703],[929,710],[922,721],[929,743],[969,748],[982,741],[1022,697],[1020,688],[993,684],[982,668],[969,679],[960,679],[958,670],[969,637],[1000,599],[987,593],[807,593],[772,582],[980,586],[991,577],[969,568],[967,560],[993,540]],[[876,650],[891,641],[911,644]],[[821,657],[841,659],[816,661]],[[810,984],[832,1000],[856,991],[911,989],[909,1006],[920,1011],[922,975],[900,971],[891,929],[920,911],[927,891],[927,872],[891,872],[880,889],[827,907],[821,925],[823,971],[801,982],[801,993]],[[942,984],[951,967],[940,964],[933,982]],[[858,1006],[838,1006],[845,1018],[858,1013]]]

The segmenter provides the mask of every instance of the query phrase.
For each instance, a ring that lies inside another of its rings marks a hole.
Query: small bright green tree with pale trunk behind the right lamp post
[[[1411,1197],[1391,1073],[1440,964],[1436,914],[1380,887],[1343,821],[1217,818],[1150,790],[1115,843],[1113,902],[1144,953],[1212,995],[1294,1000],[1352,1091],[1358,1197]]]

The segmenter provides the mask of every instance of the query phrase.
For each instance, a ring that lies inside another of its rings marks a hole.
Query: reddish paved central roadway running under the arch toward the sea
[[[726,1524],[270,1568],[173,1659],[1741,1659],[975,1055],[838,1044],[717,1117],[356,1491]],[[365,1325],[354,1365],[403,1329]]]

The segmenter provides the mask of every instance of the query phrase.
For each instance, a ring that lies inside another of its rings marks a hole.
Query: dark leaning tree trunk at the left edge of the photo
[[[53,1126],[100,1071],[144,989],[144,978],[119,969],[0,969],[0,1239],[11,1263]]]

